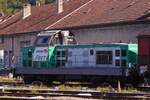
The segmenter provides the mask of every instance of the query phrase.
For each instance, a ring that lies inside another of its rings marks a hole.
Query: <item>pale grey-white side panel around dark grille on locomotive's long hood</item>
[[[93,55],[90,54],[93,50]],[[120,57],[115,57],[115,50],[120,50],[116,47],[96,47],[96,48],[69,48],[68,62],[65,67],[117,67],[115,60]],[[96,64],[96,51],[112,51],[112,64]]]

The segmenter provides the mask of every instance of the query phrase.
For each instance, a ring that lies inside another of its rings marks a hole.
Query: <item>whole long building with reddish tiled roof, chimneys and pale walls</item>
[[[78,44],[137,43],[150,32],[149,0],[58,0],[26,5],[12,16],[0,17],[0,61],[13,66],[22,47],[33,46],[37,34],[65,30]]]

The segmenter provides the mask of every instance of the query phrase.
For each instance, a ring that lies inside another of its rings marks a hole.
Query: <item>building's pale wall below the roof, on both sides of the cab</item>
[[[150,32],[150,23],[120,24],[112,26],[71,27],[67,29],[75,35],[78,44],[92,43],[137,43],[137,36]],[[1,37],[0,49],[4,52],[4,64],[13,66],[21,57],[23,47],[34,46],[39,32],[18,33]]]

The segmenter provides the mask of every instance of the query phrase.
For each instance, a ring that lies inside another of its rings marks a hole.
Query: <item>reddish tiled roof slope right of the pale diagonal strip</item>
[[[49,28],[137,20],[146,15],[149,10],[150,0],[93,0],[90,4]]]

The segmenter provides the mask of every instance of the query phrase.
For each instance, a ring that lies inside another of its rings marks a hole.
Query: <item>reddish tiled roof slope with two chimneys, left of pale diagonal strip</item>
[[[34,6],[32,7],[29,17],[23,19],[21,11],[0,25],[0,34],[44,30],[46,27],[79,8],[87,1],[89,0],[69,0],[68,2],[64,2],[64,12],[60,14],[57,13],[56,3]]]

